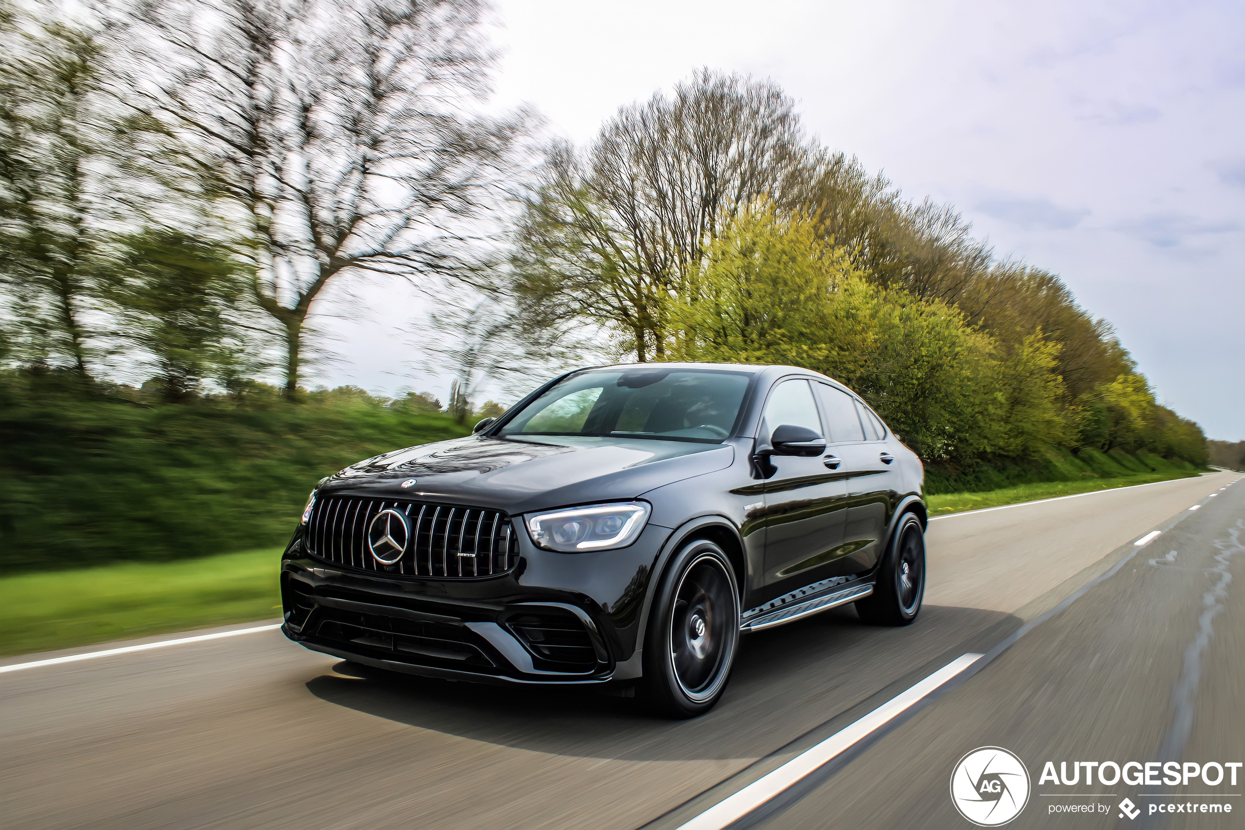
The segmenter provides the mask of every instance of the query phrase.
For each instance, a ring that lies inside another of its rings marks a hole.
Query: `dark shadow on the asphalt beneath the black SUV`
[[[670,720],[637,699],[584,688],[449,682],[340,662],[306,683],[327,703],[418,729],[557,755],[738,759],[774,752],[944,651],[1020,625],[997,611],[926,606],[883,628],[850,607],[748,635],[726,694],[708,714]]]

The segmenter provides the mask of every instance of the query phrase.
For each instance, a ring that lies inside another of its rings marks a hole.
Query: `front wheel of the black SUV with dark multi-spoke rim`
[[[712,541],[680,550],[652,605],[644,648],[644,693],[657,711],[691,718],[722,697],[740,641],[735,569]]]

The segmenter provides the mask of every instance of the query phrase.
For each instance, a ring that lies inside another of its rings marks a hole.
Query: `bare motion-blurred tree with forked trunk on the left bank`
[[[284,332],[288,394],[308,315],[337,275],[427,286],[478,273],[468,223],[525,126],[522,113],[468,112],[491,60],[482,11],[477,0],[169,0],[144,12],[153,49],[174,58],[143,106],[238,210],[255,299]]]

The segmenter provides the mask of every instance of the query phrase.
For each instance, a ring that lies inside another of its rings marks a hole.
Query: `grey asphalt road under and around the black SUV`
[[[687,722],[581,692],[351,676],[275,631],[0,673],[0,823],[675,828],[954,657],[989,655],[1040,621],[742,825],[971,826],[947,795],[951,769],[1001,745],[1033,776],[1012,826],[1050,826],[1042,759],[1245,754],[1245,613],[1230,582],[1245,559],[1230,556],[1233,534],[1245,541],[1245,484],[1219,490],[1238,478],[940,518],[914,626],[869,627],[842,609],[749,635],[723,701]],[[1199,640],[1208,602],[1219,609]],[[1109,791],[1142,804],[1150,790]],[[1216,819],[1208,826],[1240,823]]]

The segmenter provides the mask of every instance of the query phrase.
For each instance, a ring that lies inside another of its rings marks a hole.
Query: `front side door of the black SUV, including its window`
[[[759,434],[768,441],[782,424],[823,433],[808,381],[782,381],[771,391]],[[771,460],[778,469],[764,485],[766,584],[772,597],[827,576],[842,545],[847,484],[819,455]]]

